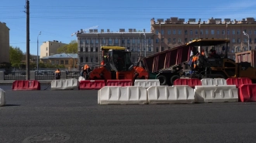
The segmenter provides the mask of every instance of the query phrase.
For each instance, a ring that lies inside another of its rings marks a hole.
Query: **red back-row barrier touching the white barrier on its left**
[[[100,90],[105,85],[105,80],[81,80],[79,90]]]

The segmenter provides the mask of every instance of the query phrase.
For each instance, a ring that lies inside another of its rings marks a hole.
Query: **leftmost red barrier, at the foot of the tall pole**
[[[12,90],[41,90],[41,86],[37,80],[15,80]]]

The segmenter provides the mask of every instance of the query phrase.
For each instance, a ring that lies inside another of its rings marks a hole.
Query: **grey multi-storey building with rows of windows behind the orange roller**
[[[155,53],[153,46],[154,33],[137,31],[136,29],[119,29],[112,32],[109,29],[91,29],[87,33],[78,33],[78,65],[85,63],[92,67],[99,66],[102,61],[101,46],[123,46],[132,52],[131,60],[136,63],[140,53],[144,56]],[[146,39],[146,40],[145,40]],[[146,50],[144,50],[146,49]]]

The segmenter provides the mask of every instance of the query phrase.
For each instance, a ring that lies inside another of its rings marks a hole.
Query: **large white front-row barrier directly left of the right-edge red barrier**
[[[195,102],[238,102],[235,85],[195,86]]]

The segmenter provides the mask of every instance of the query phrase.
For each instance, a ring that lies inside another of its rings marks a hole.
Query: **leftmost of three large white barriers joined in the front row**
[[[144,87],[102,87],[98,91],[98,104],[147,104],[147,90]]]

